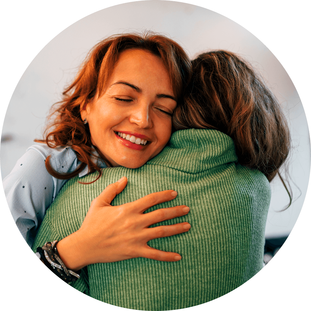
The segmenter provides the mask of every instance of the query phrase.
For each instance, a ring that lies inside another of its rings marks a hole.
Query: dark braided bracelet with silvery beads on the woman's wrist
[[[54,272],[58,277],[60,277],[66,283],[77,281],[80,278],[79,274],[67,269],[62,260],[59,257],[56,244],[58,241],[47,242],[42,247],[37,248],[37,252],[40,254],[41,258],[44,261],[44,264]]]

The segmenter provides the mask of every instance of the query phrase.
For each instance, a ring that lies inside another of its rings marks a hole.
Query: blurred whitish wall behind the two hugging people
[[[185,48],[190,58],[208,49],[239,53],[262,73],[290,124],[294,146],[290,176],[301,190],[297,198],[300,192],[291,183],[297,199],[288,210],[278,213],[288,203],[288,196],[279,179],[271,183],[266,238],[288,235],[303,206],[310,175],[309,128],[298,91],[278,55],[265,42],[219,13],[183,2],[137,1],[105,8],[67,27],[34,55],[5,114],[0,151],[2,179],[34,144],[33,139],[41,137],[51,105],[60,100],[64,86],[74,77],[91,47],[109,35],[142,29],[169,35]]]

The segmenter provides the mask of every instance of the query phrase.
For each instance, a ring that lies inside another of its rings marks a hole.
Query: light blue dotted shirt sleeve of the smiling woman
[[[45,168],[44,156],[29,149],[3,180],[12,217],[30,247],[46,209],[53,202],[54,179]]]

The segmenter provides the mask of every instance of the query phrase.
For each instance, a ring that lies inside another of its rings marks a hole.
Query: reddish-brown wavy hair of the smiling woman
[[[169,73],[177,105],[179,104],[191,77],[191,62],[182,47],[174,40],[148,31],[143,34],[113,35],[100,41],[91,49],[76,78],[63,92],[63,100],[56,103],[56,108],[52,107],[48,118],[50,124],[44,132],[45,138],[35,140],[46,143],[51,148],[70,146],[76,152],[81,165],[67,174],[54,171],[49,162],[50,156],[47,157],[46,169],[55,178],[70,179],[79,174],[86,165],[91,173],[98,171],[97,179],[100,178],[102,173],[97,165],[98,159],[92,159],[91,134],[88,125],[81,119],[80,105],[85,107],[96,91],[99,92],[99,97],[103,94],[118,62],[119,53],[126,49],[144,49],[161,58]],[[111,166],[100,151],[94,148],[105,163]]]

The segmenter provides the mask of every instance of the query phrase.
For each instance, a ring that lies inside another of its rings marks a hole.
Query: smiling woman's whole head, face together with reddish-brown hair
[[[102,174],[98,160],[108,167],[145,164],[169,140],[171,116],[190,73],[187,54],[165,36],[152,32],[114,35],[96,44],[51,113],[56,118],[46,129],[46,139],[36,140],[52,148],[70,144],[81,165],[60,174],[48,156],[48,172],[57,179],[69,179],[87,166],[90,173],[99,172],[98,179]],[[130,137],[123,141],[114,135],[118,132]],[[147,143],[143,147],[131,144],[131,136]]]

